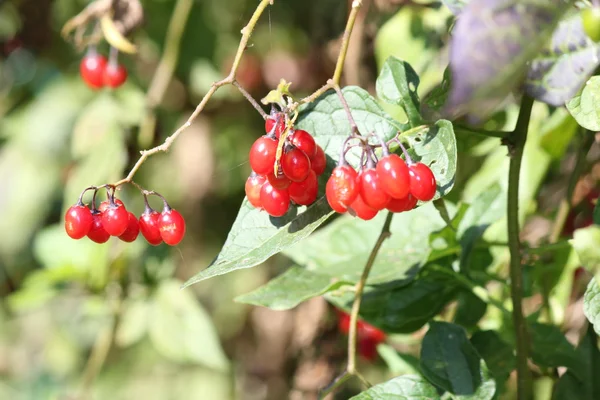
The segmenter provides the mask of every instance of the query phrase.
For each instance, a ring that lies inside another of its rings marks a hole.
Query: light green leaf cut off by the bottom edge
[[[375,385],[350,400],[436,400],[435,386],[419,375],[402,375]]]

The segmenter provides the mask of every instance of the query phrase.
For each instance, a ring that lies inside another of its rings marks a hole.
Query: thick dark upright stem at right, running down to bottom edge
[[[528,400],[531,394],[531,376],[527,365],[529,334],[527,321],[523,315],[523,275],[521,241],[519,239],[519,176],[532,107],[533,98],[523,94],[517,124],[507,138],[511,155],[508,171],[507,230],[510,251],[510,295],[513,303],[512,316],[517,344],[517,398],[519,400]]]

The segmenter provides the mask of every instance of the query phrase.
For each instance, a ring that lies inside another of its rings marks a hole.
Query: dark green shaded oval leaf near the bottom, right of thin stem
[[[465,330],[447,322],[431,322],[421,347],[421,371],[450,393],[473,395],[482,384],[481,358]]]

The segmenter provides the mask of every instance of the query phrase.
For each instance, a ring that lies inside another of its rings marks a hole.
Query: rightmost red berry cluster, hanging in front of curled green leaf
[[[418,200],[433,199],[436,181],[427,165],[413,162],[406,151],[405,162],[400,156],[390,154],[385,143],[382,145],[383,157],[376,161],[372,147],[368,144],[364,147],[363,154],[368,156],[359,172],[348,165],[342,153],[327,181],[325,195],[334,211],[350,211],[361,219],[370,220],[383,209],[396,213],[409,211]]]

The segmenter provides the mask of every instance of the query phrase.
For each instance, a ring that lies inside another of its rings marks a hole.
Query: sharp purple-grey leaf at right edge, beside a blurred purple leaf
[[[600,63],[600,45],[583,31],[579,15],[561,21],[548,46],[529,66],[525,90],[537,100],[562,106]]]

